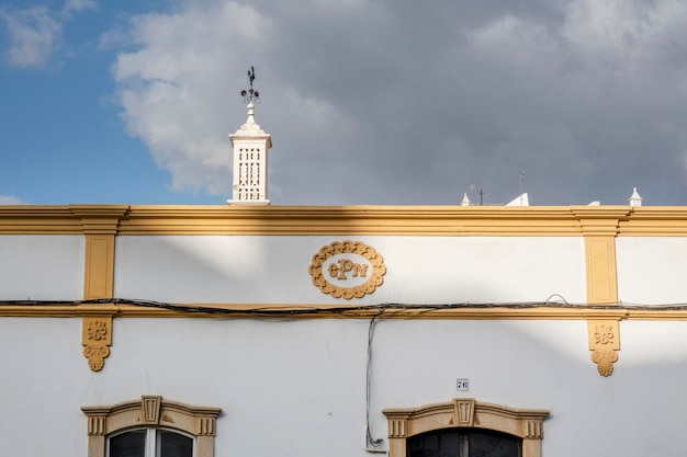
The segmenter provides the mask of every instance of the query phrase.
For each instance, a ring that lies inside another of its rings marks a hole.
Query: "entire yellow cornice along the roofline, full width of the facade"
[[[687,236],[687,207],[16,205],[0,233]]]

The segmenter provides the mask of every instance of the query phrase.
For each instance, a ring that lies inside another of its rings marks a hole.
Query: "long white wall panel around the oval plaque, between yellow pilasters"
[[[341,304],[312,284],[313,254],[362,241],[384,258],[363,304],[586,299],[582,237],[117,237],[117,298],[171,302]]]

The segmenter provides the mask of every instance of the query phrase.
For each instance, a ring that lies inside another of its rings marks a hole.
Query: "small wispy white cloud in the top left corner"
[[[49,59],[61,25],[45,7],[9,12],[0,11],[10,34],[7,58],[19,68],[42,67]]]

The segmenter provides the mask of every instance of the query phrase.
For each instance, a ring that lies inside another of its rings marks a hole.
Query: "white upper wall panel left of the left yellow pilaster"
[[[0,237],[1,299],[83,298],[83,253],[82,236]]]

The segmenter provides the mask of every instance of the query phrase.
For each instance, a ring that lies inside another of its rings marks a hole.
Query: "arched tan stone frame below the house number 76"
[[[388,457],[406,456],[406,439],[420,433],[447,429],[483,429],[522,439],[522,457],[541,457],[545,410],[522,410],[457,398],[420,408],[385,409]]]

